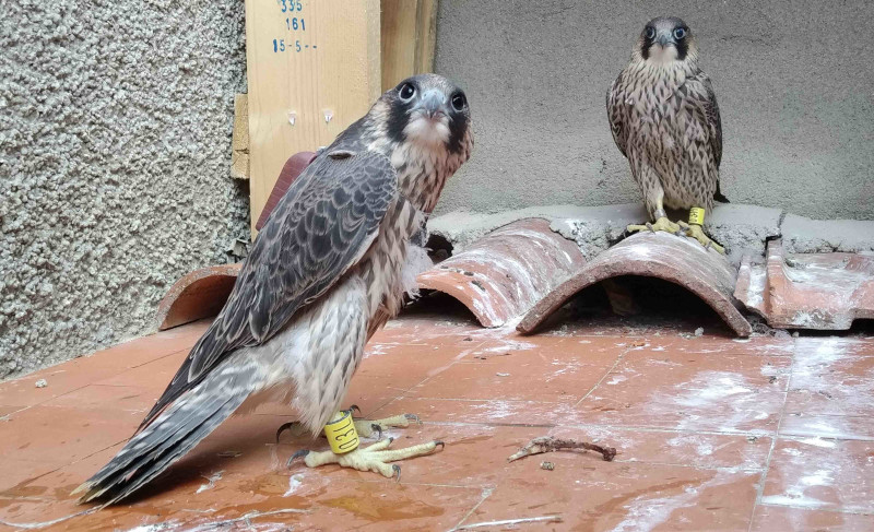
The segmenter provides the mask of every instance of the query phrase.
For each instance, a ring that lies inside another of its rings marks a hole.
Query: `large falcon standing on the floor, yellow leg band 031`
[[[365,343],[412,288],[412,237],[472,149],[468,99],[450,81],[422,74],[382,94],[288,188],[215,321],[130,441],[76,489],[80,500],[129,496],[250,395],[294,406],[314,435],[326,428],[336,452],[298,453],[309,466],[400,476],[389,462],[440,446],[359,448],[355,429],[373,425],[340,406]]]

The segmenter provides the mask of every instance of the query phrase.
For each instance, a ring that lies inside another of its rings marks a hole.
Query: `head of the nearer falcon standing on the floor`
[[[386,91],[378,106],[387,114],[387,133],[394,142],[444,149],[452,154],[470,151],[473,141],[468,97],[441,75],[408,78]]]

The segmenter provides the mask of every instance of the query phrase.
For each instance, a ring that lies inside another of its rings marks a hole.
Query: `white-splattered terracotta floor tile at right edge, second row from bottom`
[[[779,439],[761,503],[874,513],[874,441]]]

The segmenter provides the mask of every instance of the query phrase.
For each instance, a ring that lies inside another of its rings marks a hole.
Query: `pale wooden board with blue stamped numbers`
[[[252,237],[285,161],[329,144],[381,93],[379,11],[379,0],[246,0]]]

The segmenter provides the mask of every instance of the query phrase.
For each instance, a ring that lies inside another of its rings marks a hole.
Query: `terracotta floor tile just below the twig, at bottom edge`
[[[542,470],[540,460],[520,461],[516,476],[498,485],[464,524],[556,515],[563,522],[542,529],[746,530],[749,523],[758,473],[583,462],[562,454],[548,456],[554,471]]]

